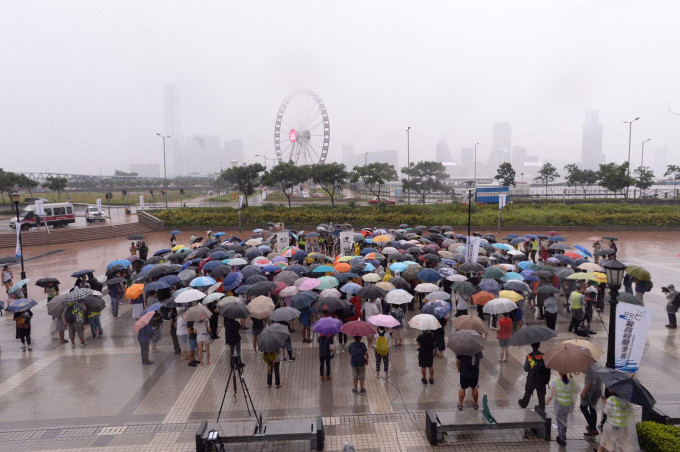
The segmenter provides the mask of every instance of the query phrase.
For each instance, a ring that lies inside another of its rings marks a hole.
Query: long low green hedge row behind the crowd
[[[493,227],[498,222],[498,209],[493,205],[475,205],[472,224]],[[169,226],[238,225],[238,210],[231,207],[194,207],[153,212]],[[290,226],[313,226],[320,223],[350,223],[354,226],[394,227],[409,225],[467,225],[467,205],[391,205],[329,206],[309,205],[282,207],[265,205],[241,210],[243,225],[262,226],[283,222]],[[680,227],[680,209],[674,206],[627,204],[541,204],[510,205],[502,212],[504,227],[520,226],[654,226]]]

